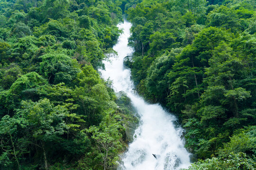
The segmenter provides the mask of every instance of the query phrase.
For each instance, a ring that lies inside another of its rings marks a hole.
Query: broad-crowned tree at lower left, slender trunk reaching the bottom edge
[[[47,163],[47,144],[56,142],[66,133],[67,125],[64,118],[68,113],[63,106],[55,106],[48,99],[42,99],[38,102],[23,101],[21,109],[17,111],[23,119],[27,120],[29,127],[29,136],[33,137],[30,144],[40,148],[43,152],[45,169],[48,169]]]

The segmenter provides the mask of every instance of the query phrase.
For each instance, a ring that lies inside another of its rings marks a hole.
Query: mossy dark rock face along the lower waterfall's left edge
[[[125,127],[125,134],[123,134],[123,140],[126,143],[133,141],[134,131],[137,129],[139,119],[136,117],[136,110],[131,104],[131,100],[127,97],[126,93],[120,91],[117,93],[116,100],[119,110],[123,114],[122,124]]]

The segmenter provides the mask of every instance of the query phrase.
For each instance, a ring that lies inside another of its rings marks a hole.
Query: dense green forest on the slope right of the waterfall
[[[187,149],[208,159],[190,169],[254,169],[256,1],[136,3],[126,11],[135,49],[128,65],[137,91],[174,112]]]

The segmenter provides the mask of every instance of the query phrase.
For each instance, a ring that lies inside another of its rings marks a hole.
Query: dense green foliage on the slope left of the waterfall
[[[85,129],[100,128],[106,110],[119,115],[111,85],[95,70],[115,52],[119,5],[116,0],[0,2],[0,169],[74,170],[83,167],[83,159],[92,162],[88,169],[103,168]],[[108,123],[106,128],[117,122]],[[123,131],[118,124],[112,135]],[[122,136],[115,139],[120,144]],[[109,152],[111,167],[122,149]]]

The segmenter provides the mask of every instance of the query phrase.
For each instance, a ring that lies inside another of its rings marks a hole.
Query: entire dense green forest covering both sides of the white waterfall
[[[180,120],[188,170],[255,170],[255,0],[1,0],[0,170],[117,169],[137,119],[98,70],[123,16],[137,92]]]

